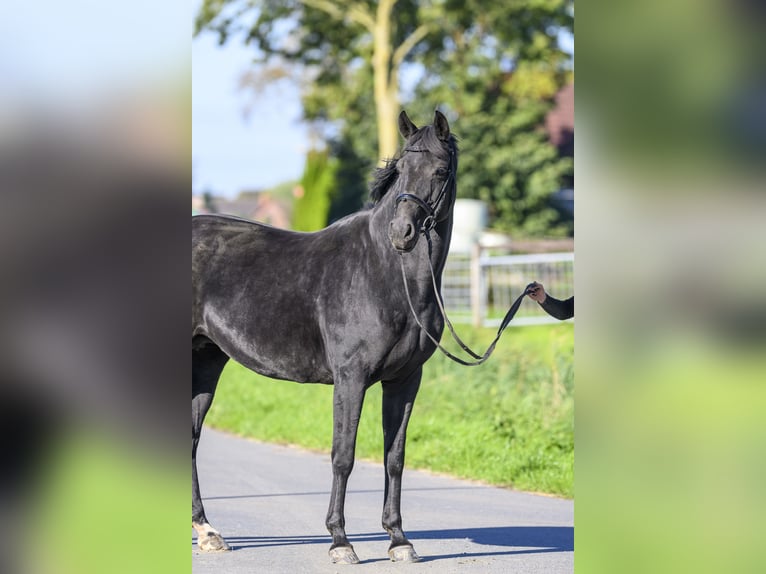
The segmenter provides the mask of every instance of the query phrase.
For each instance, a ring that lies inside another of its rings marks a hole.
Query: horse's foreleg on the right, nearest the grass
[[[383,460],[386,486],[383,502],[383,528],[391,537],[388,555],[394,562],[420,560],[402,531],[402,472],[407,423],[420,388],[422,368],[400,380],[384,381],[383,386]]]

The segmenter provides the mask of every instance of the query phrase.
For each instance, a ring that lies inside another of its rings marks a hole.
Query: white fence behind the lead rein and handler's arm
[[[529,283],[538,281],[557,299],[574,295],[574,253],[472,255],[452,253],[442,276],[442,296],[455,323],[497,326]],[[553,323],[557,320],[529,298],[511,326]]]

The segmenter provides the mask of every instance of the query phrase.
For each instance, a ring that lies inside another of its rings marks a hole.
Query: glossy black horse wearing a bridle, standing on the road
[[[376,170],[373,206],[326,229],[296,233],[234,217],[193,218],[192,526],[201,550],[229,549],[205,517],[196,453],[218,378],[232,358],[268,377],[334,385],[326,525],[337,563],[359,561],[343,508],[364,395],[381,381],[388,553],[394,561],[419,559],[402,531],[401,481],[407,422],[435,345],[412,311],[441,336],[428,259],[438,288],[452,234],[457,145],[438,111],[433,125],[420,129],[402,112],[399,131],[406,144]],[[430,245],[418,247],[422,232]]]

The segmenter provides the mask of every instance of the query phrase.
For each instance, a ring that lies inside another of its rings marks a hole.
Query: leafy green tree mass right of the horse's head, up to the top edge
[[[445,10],[440,36],[429,37],[433,45],[421,55],[428,74],[413,101],[442,102],[460,120],[468,145],[461,146],[458,195],[486,201],[492,226],[517,236],[571,234],[571,218],[551,195],[572,162],[559,157],[543,125],[558,90],[572,81],[554,33],[571,28],[571,3],[461,0]]]

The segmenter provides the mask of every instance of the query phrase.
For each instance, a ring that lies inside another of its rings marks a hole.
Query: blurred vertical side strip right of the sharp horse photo
[[[765,15],[579,3],[578,571],[764,568]]]

